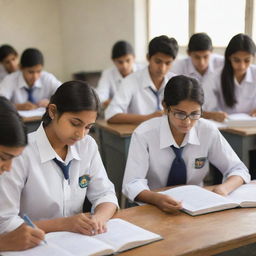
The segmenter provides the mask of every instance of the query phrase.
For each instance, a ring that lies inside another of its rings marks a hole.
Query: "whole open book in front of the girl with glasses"
[[[159,193],[182,201],[182,211],[195,216],[236,207],[256,207],[256,184],[244,184],[228,196],[195,185],[184,185]]]

